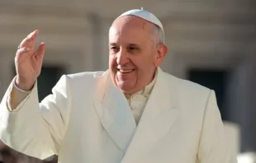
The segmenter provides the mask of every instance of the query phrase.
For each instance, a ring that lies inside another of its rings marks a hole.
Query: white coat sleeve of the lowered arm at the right
[[[232,142],[225,133],[214,91],[211,91],[206,102],[198,160],[200,163],[237,162]]]

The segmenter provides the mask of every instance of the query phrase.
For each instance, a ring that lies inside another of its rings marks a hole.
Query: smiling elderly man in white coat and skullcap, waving
[[[64,75],[38,101],[45,43],[38,30],[17,50],[17,76],[0,108],[1,139],[17,151],[59,162],[234,163],[216,95],[163,72],[164,28],[131,10],[109,30],[109,69]]]

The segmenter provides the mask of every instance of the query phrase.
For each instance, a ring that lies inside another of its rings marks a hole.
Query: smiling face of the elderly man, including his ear
[[[124,93],[143,89],[162,63],[167,47],[156,44],[155,28],[140,17],[123,16],[109,30],[111,79]]]

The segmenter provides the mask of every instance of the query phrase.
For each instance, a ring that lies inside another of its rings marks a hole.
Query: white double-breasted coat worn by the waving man
[[[235,163],[215,92],[160,68],[154,80],[138,112],[108,71],[64,75],[40,103],[35,84],[10,111],[12,81],[0,105],[0,138],[29,156],[56,154],[60,163]]]

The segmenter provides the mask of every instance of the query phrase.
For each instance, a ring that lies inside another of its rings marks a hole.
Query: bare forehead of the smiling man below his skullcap
[[[141,44],[152,41],[153,24],[137,16],[124,16],[114,21],[109,30],[109,41]]]

